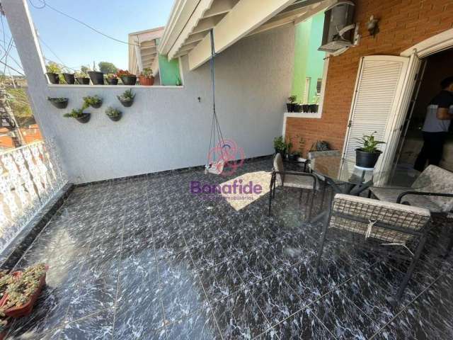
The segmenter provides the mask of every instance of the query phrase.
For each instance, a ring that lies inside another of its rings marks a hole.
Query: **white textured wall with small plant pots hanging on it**
[[[136,86],[131,108],[122,108],[117,101],[123,87],[47,86],[22,5],[17,5],[23,2],[16,1],[2,3],[28,76],[35,117],[45,137],[57,142],[71,181],[84,183],[206,163],[212,119],[209,63],[188,72],[188,60],[183,57],[183,88]],[[281,135],[285,98],[291,91],[293,59],[294,26],[244,38],[216,59],[222,131],[244,149],[246,157],[273,152],[273,137]],[[87,110],[92,113],[90,122],[80,124],[62,117],[71,108],[79,108],[83,96],[95,94],[104,103]],[[47,96],[68,97],[68,108],[53,107]],[[104,114],[108,106],[121,108],[122,120],[110,121]]]

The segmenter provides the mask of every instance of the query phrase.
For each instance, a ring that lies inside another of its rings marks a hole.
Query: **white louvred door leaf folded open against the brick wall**
[[[362,57],[352,98],[343,158],[355,160],[360,138],[375,132],[382,151],[376,171],[391,169],[421,61],[415,55]]]

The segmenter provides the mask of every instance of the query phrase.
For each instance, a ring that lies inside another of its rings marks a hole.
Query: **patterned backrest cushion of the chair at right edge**
[[[430,165],[418,179],[413,183],[416,191],[425,191],[428,193],[453,193],[453,172],[440,168],[439,166]],[[428,200],[440,207],[442,212],[453,210],[453,198],[427,196]]]

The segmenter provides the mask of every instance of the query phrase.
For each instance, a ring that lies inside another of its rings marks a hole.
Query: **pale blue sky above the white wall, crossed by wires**
[[[73,69],[80,69],[81,65],[92,67],[93,62],[97,65],[101,61],[113,62],[116,67],[127,69],[126,44],[105,38],[49,7],[38,9],[33,6],[44,6],[42,0],[27,2],[45,58]],[[128,33],[165,26],[173,6],[173,0],[45,0],[45,2],[123,41],[127,41]],[[6,20],[4,32],[7,47],[11,33]],[[3,42],[1,44],[3,45]],[[4,57],[4,50],[1,52],[1,56]],[[14,48],[11,50],[11,57],[20,62]],[[8,59],[8,64],[18,68],[11,58]],[[12,71],[11,73],[16,74]]]

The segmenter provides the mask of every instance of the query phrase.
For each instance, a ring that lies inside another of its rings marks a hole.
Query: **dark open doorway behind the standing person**
[[[398,166],[413,168],[415,159],[423,146],[422,128],[425,121],[426,108],[431,99],[440,91],[440,81],[453,76],[453,48],[437,52],[423,58],[420,78],[415,85],[413,98],[408,108],[403,133],[398,143],[395,163]],[[453,112],[453,107],[451,111]],[[453,125],[445,143],[444,154],[440,166],[453,171]]]

